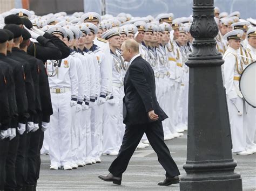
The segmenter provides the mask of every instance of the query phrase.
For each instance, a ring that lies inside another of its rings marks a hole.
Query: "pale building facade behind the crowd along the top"
[[[172,12],[177,18],[192,15],[193,0],[0,0],[0,13],[12,8],[29,8],[35,11],[36,15],[60,11],[68,14],[80,11],[102,14],[102,4],[105,4],[106,13],[113,16],[125,12],[134,17],[155,17],[159,13]],[[256,0],[215,0],[214,5],[218,6],[221,12],[239,11],[242,18],[255,17]]]

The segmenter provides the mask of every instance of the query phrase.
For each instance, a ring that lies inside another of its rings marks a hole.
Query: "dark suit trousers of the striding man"
[[[164,143],[164,131],[161,122],[126,125],[122,146],[117,158],[109,167],[109,172],[114,176],[122,177],[144,132],[153,150],[157,153],[158,161],[166,171],[166,177],[179,175],[179,169],[171,157],[169,148]]]

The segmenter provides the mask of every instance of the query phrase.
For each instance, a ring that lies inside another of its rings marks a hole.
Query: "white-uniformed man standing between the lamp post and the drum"
[[[239,80],[243,71],[239,48],[243,33],[244,31],[237,29],[225,34],[224,39],[228,41],[229,46],[223,56],[225,60],[223,69],[233,143],[232,152],[233,154],[248,155],[252,152],[246,150],[246,129],[243,123],[244,100],[239,91]]]

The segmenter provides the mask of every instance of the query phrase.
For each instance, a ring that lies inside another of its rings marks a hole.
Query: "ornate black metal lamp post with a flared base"
[[[232,158],[230,123],[221,75],[224,63],[214,39],[213,0],[193,0],[193,52],[188,98],[187,161],[180,190],[242,190],[237,163]]]

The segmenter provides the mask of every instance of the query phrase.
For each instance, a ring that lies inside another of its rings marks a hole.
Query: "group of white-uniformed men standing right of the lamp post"
[[[228,111],[234,154],[247,155],[256,152],[254,144],[256,111],[243,99],[239,89],[243,70],[255,58],[255,19],[240,19],[239,11],[228,15],[214,9],[215,21],[219,27],[217,49],[223,54],[223,81],[226,88]],[[245,105],[245,107],[243,106]],[[239,109],[239,115],[238,110]]]

